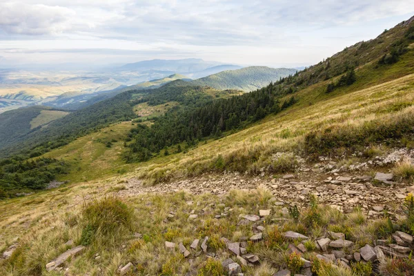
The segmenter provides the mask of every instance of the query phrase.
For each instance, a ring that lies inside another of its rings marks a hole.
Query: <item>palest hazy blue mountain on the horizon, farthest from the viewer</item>
[[[189,72],[199,72],[219,65],[221,65],[221,63],[217,61],[204,61],[203,59],[152,59],[149,61],[128,63],[119,67],[118,70],[139,72],[146,70],[160,70],[188,75]]]

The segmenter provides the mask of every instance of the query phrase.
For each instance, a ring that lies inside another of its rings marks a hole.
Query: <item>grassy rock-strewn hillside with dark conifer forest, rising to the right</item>
[[[53,121],[0,162],[0,274],[413,275],[413,45],[414,17],[249,93],[175,80]]]

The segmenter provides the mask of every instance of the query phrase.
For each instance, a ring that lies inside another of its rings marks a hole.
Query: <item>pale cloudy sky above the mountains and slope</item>
[[[410,0],[0,0],[0,67],[183,58],[309,66],[413,15]]]

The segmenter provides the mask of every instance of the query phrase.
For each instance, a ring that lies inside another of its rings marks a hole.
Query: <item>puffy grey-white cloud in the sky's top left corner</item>
[[[0,3],[0,29],[8,34],[58,34],[70,30],[75,12],[58,6]]]

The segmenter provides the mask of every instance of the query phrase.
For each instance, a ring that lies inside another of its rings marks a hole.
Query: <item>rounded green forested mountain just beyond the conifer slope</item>
[[[297,70],[288,68],[268,68],[250,66],[239,70],[228,70],[192,81],[197,86],[210,86],[218,90],[236,89],[250,92],[267,86],[282,77],[295,74]]]

